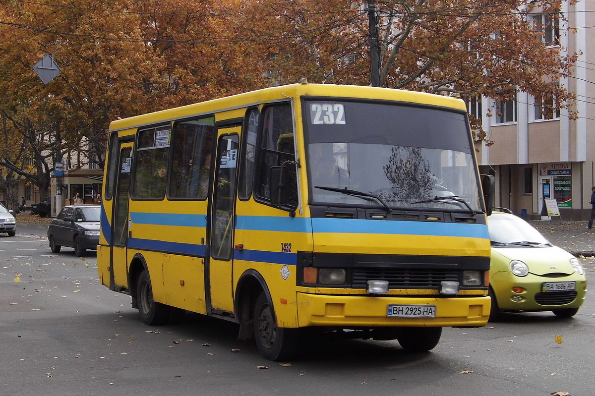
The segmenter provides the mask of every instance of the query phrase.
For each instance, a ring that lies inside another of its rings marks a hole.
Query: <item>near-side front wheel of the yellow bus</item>
[[[277,326],[274,308],[261,293],[254,305],[254,336],[261,355],[268,360],[290,359],[299,348],[299,334],[299,329]]]

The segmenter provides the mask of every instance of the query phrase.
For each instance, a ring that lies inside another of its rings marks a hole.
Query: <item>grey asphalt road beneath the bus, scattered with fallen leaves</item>
[[[282,365],[237,341],[234,323],[189,314],[143,325],[129,296],[99,284],[95,252],[53,254],[45,230],[0,234],[0,395],[595,394],[592,290],[573,319],[515,314],[446,328],[421,354],[396,341],[312,340]]]

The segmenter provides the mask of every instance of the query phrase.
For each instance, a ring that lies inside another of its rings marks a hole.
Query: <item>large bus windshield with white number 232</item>
[[[312,205],[481,212],[462,112],[325,98],[304,116]]]

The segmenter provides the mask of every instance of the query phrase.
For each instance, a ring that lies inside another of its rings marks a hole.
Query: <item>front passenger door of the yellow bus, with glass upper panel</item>
[[[211,202],[208,290],[211,313],[233,312],[233,235],[240,127],[218,131]]]

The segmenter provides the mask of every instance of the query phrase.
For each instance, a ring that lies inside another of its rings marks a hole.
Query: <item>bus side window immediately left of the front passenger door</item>
[[[173,136],[173,174],[168,197],[206,199],[209,191],[213,117],[177,122]]]

